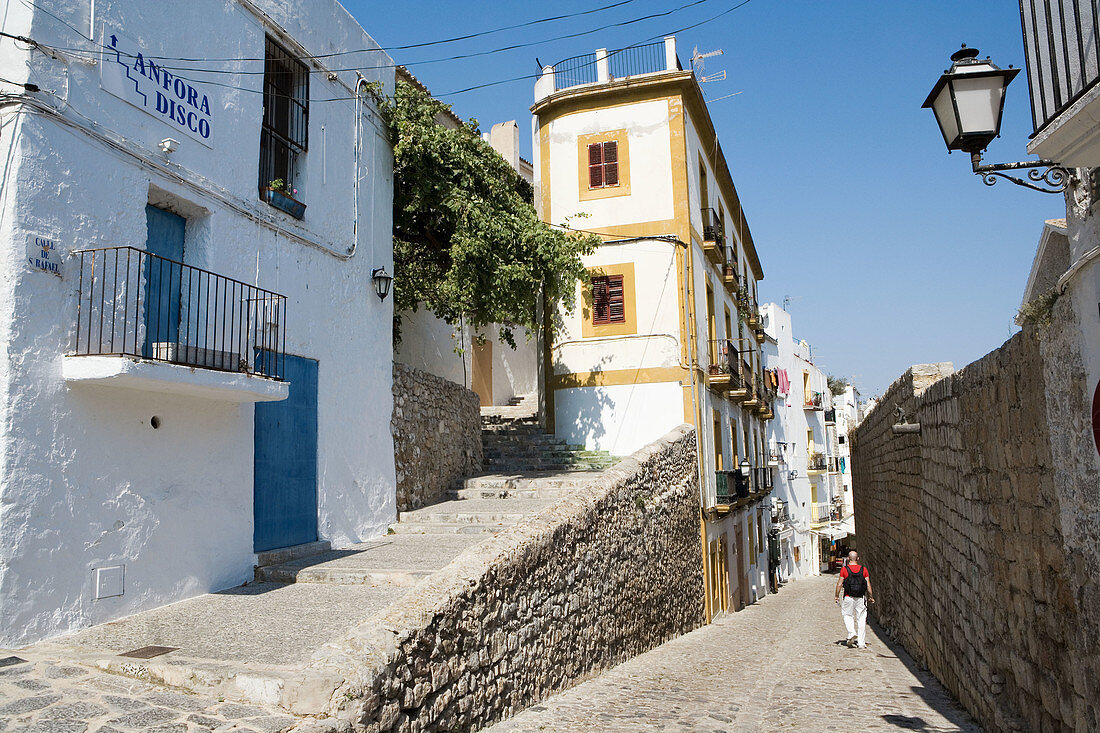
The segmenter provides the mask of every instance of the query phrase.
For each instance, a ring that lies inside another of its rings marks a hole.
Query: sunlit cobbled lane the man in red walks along
[[[806,578],[488,729],[980,731],[943,687],[868,627],[845,637],[835,576]]]

